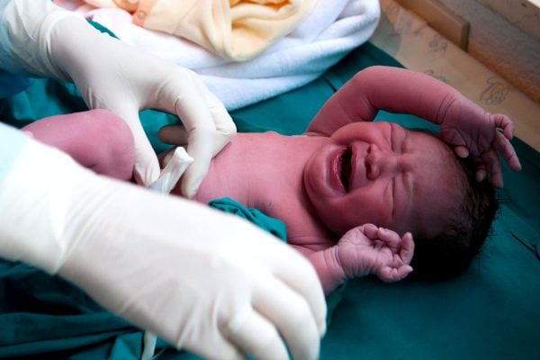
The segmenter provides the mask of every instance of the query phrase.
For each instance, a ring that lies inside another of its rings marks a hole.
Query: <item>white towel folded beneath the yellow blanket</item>
[[[187,40],[140,28],[119,9],[95,9],[85,16],[131,45],[192,68],[227,109],[234,110],[322,75],[371,37],[380,7],[376,0],[320,0],[294,31],[257,58],[241,63],[219,58]]]

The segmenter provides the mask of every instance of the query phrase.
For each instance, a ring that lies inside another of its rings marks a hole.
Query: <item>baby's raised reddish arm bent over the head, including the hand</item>
[[[478,160],[477,177],[482,179],[487,170],[496,186],[502,186],[499,156],[511,169],[521,168],[509,142],[514,124],[507,116],[485,112],[452,86],[399,67],[367,67],[358,72],[323,105],[306,134],[330,136],[348,123],[374,120],[379,110],[410,113],[437,123],[442,139],[459,157],[471,154]]]

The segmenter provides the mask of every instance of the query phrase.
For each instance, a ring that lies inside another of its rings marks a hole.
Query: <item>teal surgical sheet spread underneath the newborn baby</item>
[[[232,112],[242,131],[301,133],[322,103],[356,71],[400,66],[371,44],[356,49],[300,89]],[[4,103],[0,118],[23,126],[52,114],[85,109],[72,85],[32,80]],[[157,151],[157,129],[175,121],[147,111],[145,129]],[[381,112],[378,119],[418,126],[423,121]],[[540,154],[513,141],[523,171],[504,167],[505,189],[493,234],[473,266],[445,283],[374,278],[350,281],[337,303],[321,359],[538,359],[540,339]],[[0,215],[1,216],[1,215]],[[333,309],[334,306],[331,306]],[[142,333],[61,279],[0,263],[0,357],[135,359]],[[158,344],[166,359],[195,356]]]

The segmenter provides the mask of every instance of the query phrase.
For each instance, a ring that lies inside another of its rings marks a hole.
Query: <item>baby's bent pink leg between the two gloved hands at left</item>
[[[97,174],[130,180],[135,148],[128,125],[112,112],[91,110],[51,116],[23,128]]]

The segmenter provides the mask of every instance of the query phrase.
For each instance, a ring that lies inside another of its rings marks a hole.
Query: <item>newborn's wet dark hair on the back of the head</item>
[[[455,160],[456,167],[463,170],[461,200],[447,219],[445,229],[429,238],[414,236],[411,278],[437,281],[462,274],[490,234],[499,209],[495,189],[488,179],[476,180],[471,157]]]

